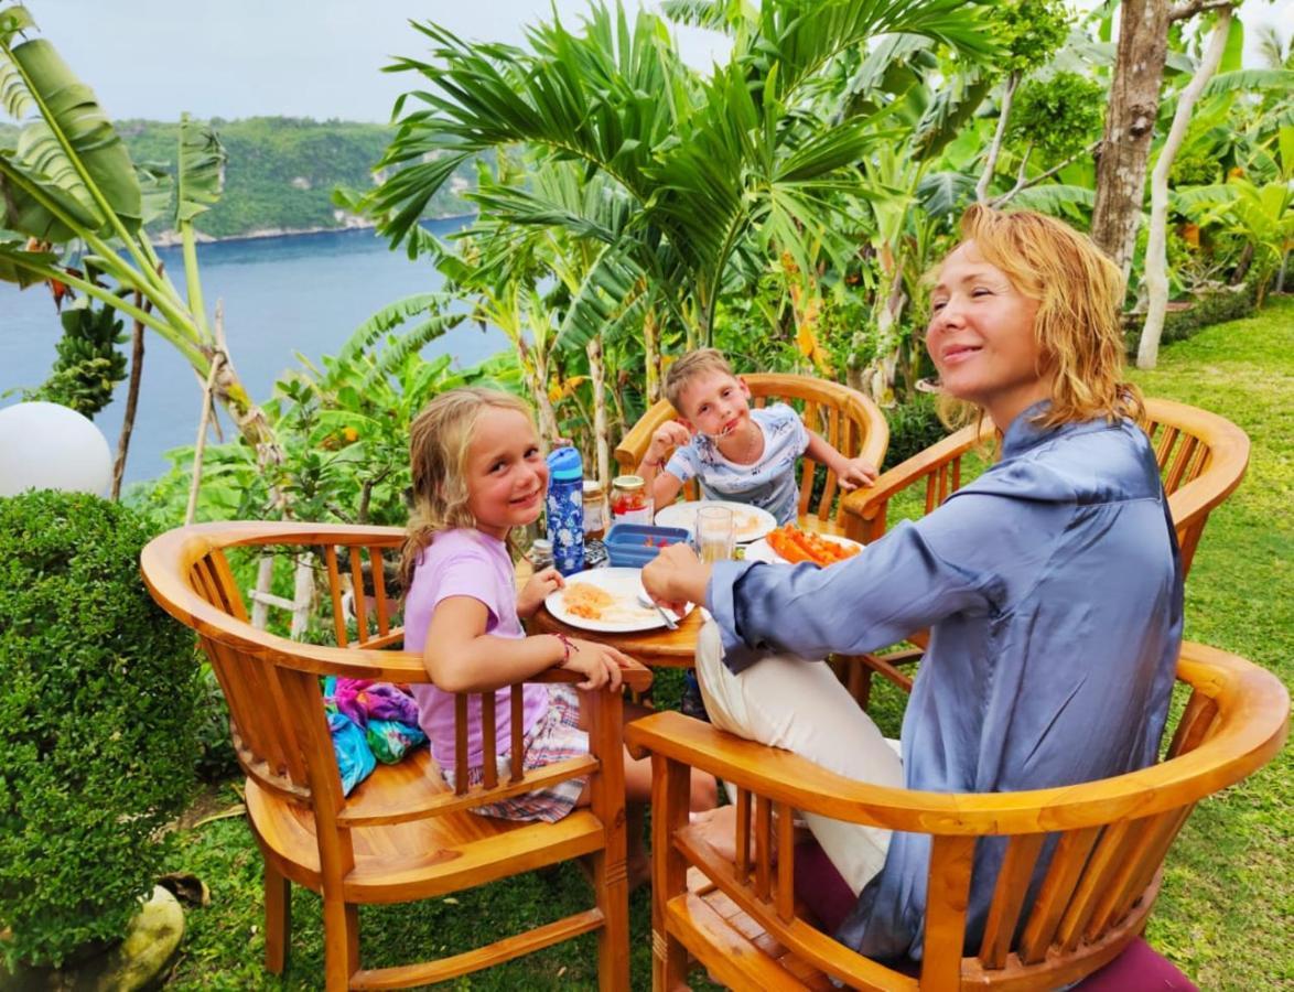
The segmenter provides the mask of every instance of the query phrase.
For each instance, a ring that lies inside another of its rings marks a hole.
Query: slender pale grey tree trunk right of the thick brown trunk
[[[1178,149],[1187,137],[1190,125],[1190,113],[1200,98],[1205,84],[1218,71],[1222,53],[1227,48],[1227,34],[1231,31],[1231,8],[1223,8],[1218,16],[1209,48],[1200,59],[1200,66],[1190,81],[1178,97],[1178,109],[1172,115],[1168,137],[1159,149],[1159,158],[1150,175],[1150,237],[1145,248],[1145,288],[1149,307],[1141,340],[1137,344],[1136,363],[1139,369],[1153,369],[1159,356],[1159,336],[1163,334],[1163,317],[1168,310],[1168,171],[1178,155]]]

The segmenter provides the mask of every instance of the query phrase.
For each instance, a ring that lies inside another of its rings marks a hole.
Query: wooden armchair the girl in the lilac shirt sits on
[[[445,786],[426,748],[377,770],[351,795],[342,782],[329,736],[320,678],[340,675],[426,683],[418,653],[387,651],[402,634],[392,625],[383,569],[373,568],[371,600],[353,598],[348,630],[345,591],[362,588],[367,563],[395,551],[402,532],[375,526],[292,523],[203,524],[172,530],[141,555],[154,599],[193,627],[229,702],[230,731],[247,775],[247,816],[265,867],[265,967],[281,973],[289,939],[290,883],[324,899],[325,973],[329,989],[401,988],[455,978],[567,938],[598,931],[600,987],[629,987],[629,908],[625,869],[624,749],[621,698],[600,693],[591,713],[589,755],[524,772],[521,693],[511,687],[511,773],[489,763],[481,786],[467,788],[467,702],[457,697],[457,792]],[[226,552],[278,548],[322,563],[336,647],[305,644],[248,623]],[[371,601],[371,607],[369,605]],[[575,682],[550,670],[531,682]],[[651,675],[635,667],[625,682],[646,689]],[[494,693],[483,702],[485,753],[494,753]],[[545,784],[589,776],[593,801],[555,823],[515,823],[468,810]],[[581,913],[506,936],[439,961],[395,967],[360,965],[358,905],[448,895],[520,872],[590,856],[597,904]]]

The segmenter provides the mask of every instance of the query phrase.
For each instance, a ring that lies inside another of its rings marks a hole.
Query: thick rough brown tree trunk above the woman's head
[[[1092,241],[1127,278],[1145,198],[1145,167],[1168,54],[1166,0],[1123,0],[1114,81],[1096,169]]]

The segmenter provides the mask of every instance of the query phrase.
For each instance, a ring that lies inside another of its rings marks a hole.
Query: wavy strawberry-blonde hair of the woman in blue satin
[[[1046,213],[974,204],[961,217],[968,241],[1038,300],[1034,338],[1053,379],[1051,407],[1036,423],[1140,418],[1141,393],[1123,378],[1123,275],[1091,238]]]

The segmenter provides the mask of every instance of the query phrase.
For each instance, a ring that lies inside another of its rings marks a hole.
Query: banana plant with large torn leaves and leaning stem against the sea
[[[199,380],[211,382],[214,398],[261,466],[282,460],[202,297],[193,220],[220,195],[224,149],[208,128],[182,119],[172,225],[184,242],[184,296],[163,272],[144,226],[170,199],[170,178],[131,160],[94,93],[47,39],[31,36],[35,27],[23,6],[0,9],[0,101],[22,122],[14,146],[0,146],[0,279],[19,286],[53,279],[151,329]],[[74,253],[82,268],[71,264]],[[87,277],[85,268],[98,278]],[[138,292],[150,305],[136,305],[124,291]]]

